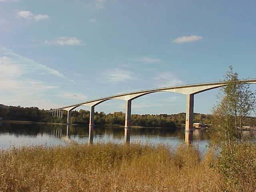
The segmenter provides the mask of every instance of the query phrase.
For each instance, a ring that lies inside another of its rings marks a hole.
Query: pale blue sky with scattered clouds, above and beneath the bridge
[[[0,103],[57,108],[223,80],[230,65],[256,78],[255,20],[251,0],[0,0]],[[218,91],[196,94],[194,112],[209,114]],[[124,110],[122,100],[96,106]],[[132,101],[132,114],[180,112],[182,94]]]

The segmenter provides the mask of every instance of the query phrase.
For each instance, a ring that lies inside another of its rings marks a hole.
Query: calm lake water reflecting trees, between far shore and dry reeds
[[[52,146],[70,142],[88,143],[88,131],[89,128],[85,125],[0,123],[0,149],[40,144]],[[176,146],[182,144],[184,138],[183,128],[132,128],[130,142]],[[194,130],[193,141],[200,150],[206,150],[209,141],[208,131]],[[95,127],[93,142],[123,143],[124,128]]]

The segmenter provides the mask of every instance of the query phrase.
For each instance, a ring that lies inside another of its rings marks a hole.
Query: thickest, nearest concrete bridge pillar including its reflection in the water
[[[185,142],[193,141],[194,94],[186,95],[186,128]]]

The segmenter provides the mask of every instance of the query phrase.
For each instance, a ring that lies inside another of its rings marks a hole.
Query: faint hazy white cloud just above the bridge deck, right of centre
[[[159,73],[154,80],[156,81],[156,86],[166,87],[166,86],[176,86],[182,84],[182,80],[178,79],[171,72]]]

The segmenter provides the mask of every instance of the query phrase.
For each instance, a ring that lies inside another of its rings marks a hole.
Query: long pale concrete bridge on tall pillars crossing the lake
[[[256,79],[248,79],[248,80],[238,80],[237,83],[240,84],[256,84]],[[219,88],[222,86],[226,86],[227,82],[210,82],[210,83],[202,83],[202,84],[190,84],[190,85],[182,85],[182,86],[172,86],[172,87],[164,87],[164,88],[156,88],[151,90],[143,90],[136,91],[124,94],[118,94],[114,96],[108,96],[104,98],[99,98],[95,100],[89,100],[82,103],[64,106],[60,108],[56,108],[50,110],[52,115],[62,116],[62,110],[68,112],[67,123],[70,124],[70,114],[71,111],[79,106],[90,106],[90,122],[89,122],[89,138],[90,143],[93,141],[93,127],[94,127],[94,107],[104,101],[110,99],[119,99],[124,100],[126,102],[126,112],[125,112],[125,125],[124,125],[124,139],[125,142],[130,142],[130,134],[131,134],[131,106],[132,100],[155,92],[174,92],[186,95],[186,126],[185,126],[185,141],[190,143],[192,142],[193,137],[193,113],[194,113],[194,95],[211,90],[214,88]]]

